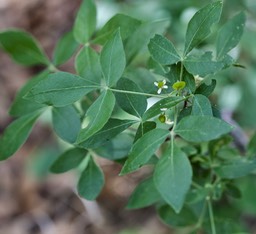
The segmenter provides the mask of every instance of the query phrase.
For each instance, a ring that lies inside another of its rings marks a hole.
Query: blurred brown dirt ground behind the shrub
[[[47,54],[68,31],[81,0],[0,0],[0,30],[18,27],[31,32]],[[39,71],[24,68],[0,51],[0,132],[11,122],[8,109],[17,90]],[[67,64],[66,70],[70,70]],[[120,166],[100,161],[106,186],[97,201],[79,198],[75,173],[44,175],[28,172],[31,155],[56,144],[49,127],[37,124],[28,142],[0,163],[0,234],[168,234],[152,208],[125,210],[141,175],[118,177]]]

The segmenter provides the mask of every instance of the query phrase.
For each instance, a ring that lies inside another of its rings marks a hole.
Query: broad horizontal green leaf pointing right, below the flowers
[[[221,119],[212,116],[187,116],[180,120],[175,128],[176,134],[187,141],[204,142],[214,140],[229,133],[233,127]]]

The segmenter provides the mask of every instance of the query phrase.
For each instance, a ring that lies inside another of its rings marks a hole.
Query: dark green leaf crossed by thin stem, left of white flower
[[[136,83],[129,79],[120,79],[117,83],[117,89],[124,91],[142,92]],[[142,95],[130,93],[115,93],[118,105],[127,113],[142,117],[147,109],[147,98]]]

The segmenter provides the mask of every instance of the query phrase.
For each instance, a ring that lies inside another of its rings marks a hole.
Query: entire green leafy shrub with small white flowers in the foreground
[[[219,209],[232,211],[229,199],[240,196],[235,179],[255,170],[256,137],[241,156],[231,137],[235,127],[209,99],[218,80],[204,78],[236,63],[228,52],[240,41],[245,13],[220,26],[214,51],[203,51],[198,46],[218,24],[221,1],[190,19],[183,49],[163,36],[168,19],[142,22],[117,14],[96,30],[96,12],[93,0],[82,2],[72,31],[59,40],[51,60],[29,33],[0,32],[1,48],[15,62],[45,67],[12,103],[15,120],[1,137],[0,159],[19,149],[50,109],[53,131],[70,144],[50,170],[64,173],[82,165],[80,196],[96,199],[104,186],[97,157],[122,164],[120,176],[149,165],[151,176],[136,187],[127,208],[154,205],[164,223],[187,227],[187,233],[241,231],[232,220],[237,214],[225,220]],[[145,46],[150,56],[138,77],[142,65],[134,61]],[[76,73],[59,70],[72,56]],[[152,97],[155,103],[149,105]]]

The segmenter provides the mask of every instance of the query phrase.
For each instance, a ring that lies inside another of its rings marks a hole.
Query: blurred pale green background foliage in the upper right
[[[200,7],[210,2],[212,1],[104,1],[104,5],[108,5],[110,9],[109,12],[123,12],[142,20],[170,18],[171,23],[166,32],[167,36],[177,48],[182,49],[188,21]],[[245,69],[230,68],[215,76],[218,85],[215,91],[215,95],[218,98],[216,104],[218,104],[220,108],[232,111],[234,118],[239,124],[251,133],[252,128],[256,127],[256,2],[253,0],[225,0],[223,2],[221,20],[214,32],[217,32],[219,26],[238,12],[245,11],[247,15],[242,40],[239,46],[230,52]],[[99,1],[99,5],[100,4],[101,2]],[[214,51],[215,36],[216,33],[213,33],[207,38],[205,43],[201,45],[202,49],[212,49]],[[204,45],[207,45],[207,48],[204,48]],[[209,47],[209,45],[211,45],[211,47]]]

